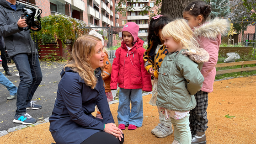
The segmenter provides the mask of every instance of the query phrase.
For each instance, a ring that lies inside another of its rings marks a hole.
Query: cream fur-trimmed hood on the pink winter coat
[[[228,19],[215,18],[202,26],[194,27],[194,34],[197,37],[206,37],[215,40],[219,34],[226,34],[229,29],[229,23]]]

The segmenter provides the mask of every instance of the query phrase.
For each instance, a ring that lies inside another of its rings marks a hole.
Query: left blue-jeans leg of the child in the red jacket
[[[118,124],[129,125],[129,115],[130,115],[130,93],[131,89],[119,89],[119,105],[117,110],[117,120]]]

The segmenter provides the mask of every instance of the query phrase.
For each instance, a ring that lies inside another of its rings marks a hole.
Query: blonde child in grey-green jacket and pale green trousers
[[[200,68],[209,54],[199,48],[197,39],[184,19],[176,19],[162,30],[168,50],[158,77],[156,105],[164,107],[174,128],[172,144],[191,144],[189,111],[196,107],[193,96],[203,85]]]

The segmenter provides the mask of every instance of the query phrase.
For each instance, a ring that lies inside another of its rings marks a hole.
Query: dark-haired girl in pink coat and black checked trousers
[[[225,19],[215,18],[207,22],[211,11],[210,5],[197,0],[187,5],[183,12],[183,18],[189,22],[195,36],[200,39],[199,43],[210,55],[209,61],[203,64],[201,70],[204,77],[203,86],[194,95],[197,106],[190,111],[192,144],[206,144],[208,93],[213,92],[213,82],[216,75],[215,65],[218,61],[221,34],[225,34],[229,27],[229,21]]]

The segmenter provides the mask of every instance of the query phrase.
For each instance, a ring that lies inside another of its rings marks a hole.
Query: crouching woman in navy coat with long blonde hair
[[[84,35],[75,41],[62,69],[50,132],[57,144],[123,144],[114,124],[103,86],[101,39]],[[103,119],[92,116],[98,106]]]

